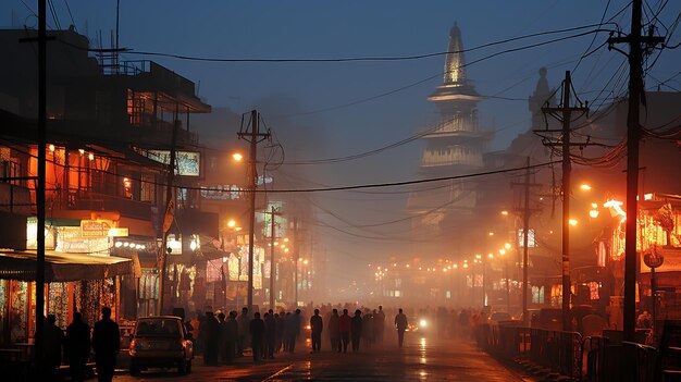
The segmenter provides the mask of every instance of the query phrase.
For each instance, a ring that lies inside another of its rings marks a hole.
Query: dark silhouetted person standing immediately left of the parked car
[[[116,356],[121,349],[121,330],[119,324],[111,320],[111,308],[101,308],[101,320],[95,323],[92,331],[92,348],[97,366],[97,380],[111,382]]]

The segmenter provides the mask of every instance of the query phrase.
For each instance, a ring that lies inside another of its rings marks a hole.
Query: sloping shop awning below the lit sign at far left
[[[131,274],[133,261],[115,256],[45,254],[45,282],[101,280]],[[0,251],[0,279],[35,281],[36,251]]]

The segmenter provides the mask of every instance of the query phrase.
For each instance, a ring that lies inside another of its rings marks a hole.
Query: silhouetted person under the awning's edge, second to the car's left
[[[83,322],[81,312],[73,313],[73,321],[66,326],[64,356],[69,363],[71,380],[85,381],[85,366],[90,357],[90,326]]]

